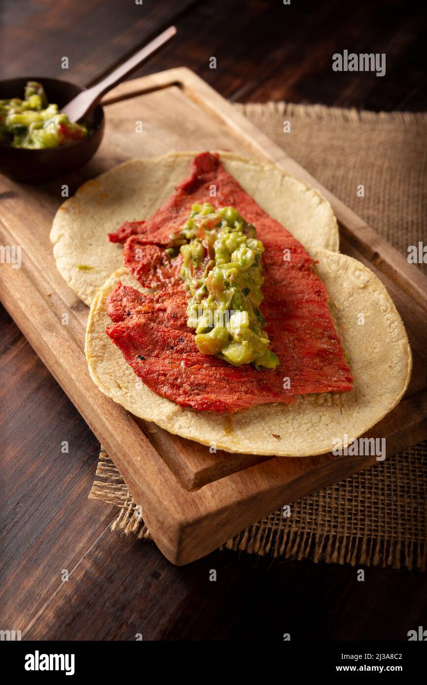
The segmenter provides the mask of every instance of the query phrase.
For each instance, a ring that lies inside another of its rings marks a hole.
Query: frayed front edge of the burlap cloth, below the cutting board
[[[96,476],[89,497],[120,508],[112,522],[112,531],[133,534],[139,540],[151,540],[149,530],[120,472],[105,450],[99,454]],[[280,530],[256,523],[228,540],[220,549],[286,559],[311,559],[328,564],[380,566],[408,571],[425,571],[427,545],[416,540],[386,540],[367,535],[313,533],[304,530]]]

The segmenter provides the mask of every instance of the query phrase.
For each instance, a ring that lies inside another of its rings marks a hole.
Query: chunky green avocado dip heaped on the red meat
[[[269,350],[260,256],[263,243],[255,227],[232,207],[215,210],[209,203],[193,205],[173,238],[184,260],[182,278],[191,298],[187,325],[195,328],[202,354],[215,354],[233,364],[275,369],[279,360]]]

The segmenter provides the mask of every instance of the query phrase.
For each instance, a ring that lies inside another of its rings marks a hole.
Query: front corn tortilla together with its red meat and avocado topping
[[[215,449],[330,451],[402,397],[404,326],[369,269],[309,254],[221,162],[197,155],[149,219],[110,234],[125,267],[90,308],[90,374],[137,416]],[[206,318],[230,307],[225,323]]]

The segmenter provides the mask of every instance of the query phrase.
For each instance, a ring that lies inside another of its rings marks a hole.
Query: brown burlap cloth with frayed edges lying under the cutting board
[[[288,103],[236,107],[403,254],[426,237],[427,114]],[[291,122],[291,133],[284,134],[284,120]],[[357,196],[360,184],[365,197]],[[294,502],[289,518],[282,510],[269,514],[225,547],[425,570],[426,486],[427,441]],[[103,451],[90,497],[120,508],[113,530],[149,539],[127,486]]]

